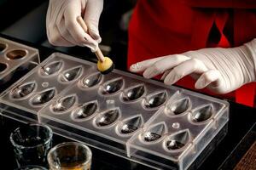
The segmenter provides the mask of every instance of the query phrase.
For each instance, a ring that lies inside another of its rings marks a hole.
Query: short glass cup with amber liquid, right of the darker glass
[[[49,150],[47,160],[50,170],[90,170],[91,156],[85,144],[67,142]]]

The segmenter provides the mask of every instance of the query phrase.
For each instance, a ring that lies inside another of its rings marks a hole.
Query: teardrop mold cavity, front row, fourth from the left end
[[[96,102],[85,103],[73,111],[74,119],[84,119],[93,115],[97,111],[98,105]]]

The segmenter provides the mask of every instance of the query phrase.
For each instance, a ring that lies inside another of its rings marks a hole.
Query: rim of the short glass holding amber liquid
[[[49,156],[55,151],[57,150],[58,148],[61,148],[62,146],[66,146],[66,145],[79,145],[79,146],[82,146],[85,148],[85,150],[87,150],[88,152],[86,152],[88,154],[87,156],[87,159],[86,161],[84,161],[83,163],[81,163],[81,166],[84,166],[86,165],[87,163],[89,163],[89,161],[91,161],[91,157],[92,157],[92,152],[90,150],[90,148],[86,145],[86,144],[83,144],[83,143],[80,143],[80,142],[63,142],[61,144],[56,144],[53,148],[51,148],[47,154],[47,161],[49,163],[49,167],[50,165],[52,165],[52,163],[50,163],[51,161],[49,160]]]

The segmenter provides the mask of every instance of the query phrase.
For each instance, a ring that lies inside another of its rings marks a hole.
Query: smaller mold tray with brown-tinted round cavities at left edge
[[[0,37],[0,86],[3,87],[15,72],[32,70],[39,62],[38,49]]]

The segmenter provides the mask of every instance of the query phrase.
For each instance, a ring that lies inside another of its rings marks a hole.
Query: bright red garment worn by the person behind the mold
[[[255,0],[139,0],[129,26],[128,67],[166,54],[249,42],[256,37],[255,8]],[[194,84],[190,77],[177,82],[195,90]],[[253,106],[255,87],[250,83],[218,97]]]

